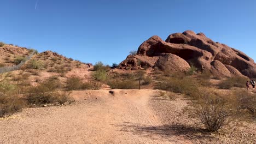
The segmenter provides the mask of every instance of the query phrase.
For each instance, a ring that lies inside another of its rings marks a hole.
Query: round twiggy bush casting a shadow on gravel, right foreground
[[[218,131],[229,124],[234,113],[230,103],[212,92],[200,92],[201,97],[196,100],[192,114],[201,121],[208,131]]]

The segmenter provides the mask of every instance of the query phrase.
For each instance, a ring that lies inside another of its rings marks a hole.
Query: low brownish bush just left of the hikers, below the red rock
[[[232,87],[245,87],[247,79],[245,77],[232,77],[222,80],[219,83],[219,88],[230,89]]]

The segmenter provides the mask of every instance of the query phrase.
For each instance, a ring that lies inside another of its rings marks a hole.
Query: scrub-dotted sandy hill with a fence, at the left
[[[33,49],[4,44],[0,47],[0,67],[13,67],[32,54]],[[91,67],[92,68],[92,67]],[[39,83],[55,77],[65,83],[68,77],[80,77],[83,81],[91,79],[86,63],[59,55],[52,51],[35,53],[18,70],[0,74],[0,81],[11,84],[37,86]]]

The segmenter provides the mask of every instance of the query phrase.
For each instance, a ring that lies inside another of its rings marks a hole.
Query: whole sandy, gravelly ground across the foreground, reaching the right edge
[[[246,135],[252,135],[240,141],[234,133],[223,140],[195,133],[201,130],[183,115],[188,100],[181,96],[171,101],[157,97],[152,89],[113,91],[74,91],[77,102],[72,105],[25,109],[0,121],[0,143],[256,142],[255,124],[247,128]]]

